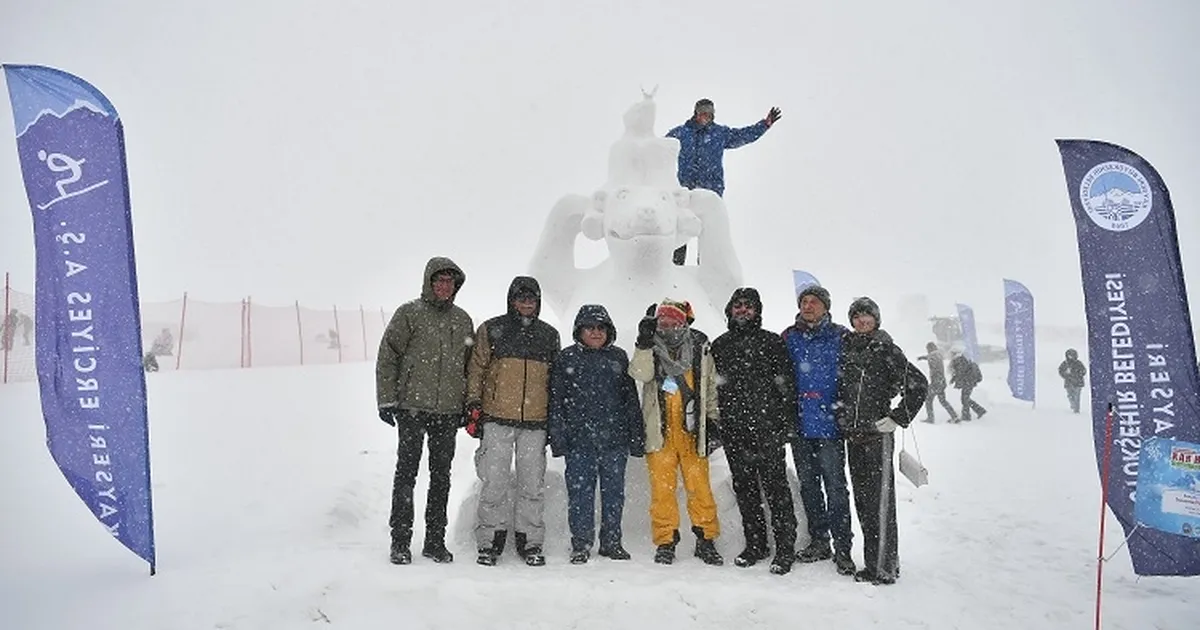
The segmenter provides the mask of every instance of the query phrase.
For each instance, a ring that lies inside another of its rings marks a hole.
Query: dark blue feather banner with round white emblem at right
[[[1096,140],[1057,140],[1075,217],[1092,379],[1092,436],[1108,504],[1138,575],[1200,575],[1200,541],[1135,528],[1139,456],[1150,438],[1200,442],[1195,364],[1175,210],[1141,156]],[[1105,461],[1105,412],[1114,404]]]

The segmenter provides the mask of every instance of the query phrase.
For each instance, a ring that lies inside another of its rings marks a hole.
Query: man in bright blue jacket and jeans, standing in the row
[[[784,331],[784,342],[796,366],[799,400],[799,437],[792,442],[792,457],[809,522],[809,546],[800,550],[797,559],[812,563],[833,557],[838,572],[852,576],[857,566],[850,556],[846,444],[834,415],[839,402],[838,361],[847,330],[830,319],[829,292],[824,287],[805,287],[797,301],[800,312],[796,324]]]

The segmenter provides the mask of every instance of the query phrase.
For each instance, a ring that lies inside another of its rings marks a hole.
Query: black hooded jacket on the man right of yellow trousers
[[[733,302],[748,300],[755,317],[733,320]],[[796,437],[796,368],[784,338],[762,329],[756,289],[733,292],[725,305],[728,331],[713,340],[721,442],[750,450],[773,449]]]

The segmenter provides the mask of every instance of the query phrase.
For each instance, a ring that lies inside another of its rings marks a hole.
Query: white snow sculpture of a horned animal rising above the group
[[[646,307],[664,298],[690,301],[695,325],[715,337],[725,330],[725,302],[742,282],[725,203],[710,191],[679,186],[679,143],[654,133],[654,94],[643,92],[610,150],[606,184],[592,197],[568,194],[554,204],[529,264],[564,328],[581,305],[601,304],[626,350]],[[575,266],[581,233],[608,246],[608,258],[592,269]],[[694,236],[700,264],[672,264],[674,248]]]

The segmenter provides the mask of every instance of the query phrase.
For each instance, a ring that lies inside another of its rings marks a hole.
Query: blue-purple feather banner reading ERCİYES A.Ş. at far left
[[[113,103],[43,66],[4,66],[34,215],[36,359],[50,456],[155,570],[150,444],[125,136]]]

